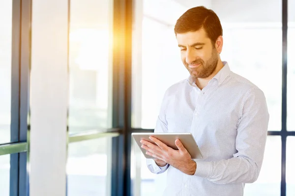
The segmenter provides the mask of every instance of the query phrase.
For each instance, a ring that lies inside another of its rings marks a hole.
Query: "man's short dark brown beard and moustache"
[[[193,78],[207,78],[209,77],[216,69],[218,63],[218,53],[216,49],[212,49],[211,57],[205,62],[203,59],[196,59],[191,63],[200,64],[196,68],[190,68],[189,64],[184,61],[186,69],[189,71]]]

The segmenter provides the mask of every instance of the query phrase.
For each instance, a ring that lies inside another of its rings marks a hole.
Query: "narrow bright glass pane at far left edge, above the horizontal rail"
[[[10,142],[12,0],[0,1],[0,144]]]

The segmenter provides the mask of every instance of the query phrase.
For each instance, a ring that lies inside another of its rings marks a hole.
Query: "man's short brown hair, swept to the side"
[[[217,38],[222,36],[222,26],[216,13],[204,6],[193,7],[187,10],[177,20],[174,27],[175,35],[197,31],[204,28],[212,44],[215,44]]]

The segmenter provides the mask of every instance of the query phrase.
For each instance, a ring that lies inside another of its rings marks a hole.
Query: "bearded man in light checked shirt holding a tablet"
[[[190,132],[204,159],[192,160],[151,137],[141,141],[153,173],[168,170],[164,196],[242,196],[261,170],[269,115],[264,93],[221,61],[222,26],[203,6],[187,10],[175,25],[188,79],[165,92],[155,132]],[[249,61],[251,63],[251,61]]]

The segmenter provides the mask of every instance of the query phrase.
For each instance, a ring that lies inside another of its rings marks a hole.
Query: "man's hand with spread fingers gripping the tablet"
[[[149,139],[153,141],[156,145],[153,145],[148,141],[142,140],[142,148],[147,150],[146,153],[149,156],[158,159],[157,162],[159,164],[168,163],[169,165],[180,170],[181,172],[184,172],[189,175],[193,175],[196,172],[196,162],[192,160],[191,155],[188,153],[185,147],[183,147],[180,140],[175,141],[175,144],[178,148],[178,150],[175,150],[171,147],[168,147],[167,145],[165,145],[160,140],[154,137],[149,137]]]

